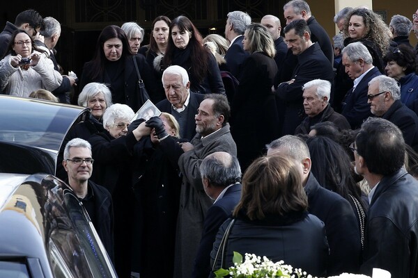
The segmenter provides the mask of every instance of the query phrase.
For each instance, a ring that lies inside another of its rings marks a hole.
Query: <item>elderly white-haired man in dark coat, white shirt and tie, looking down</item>
[[[196,135],[194,116],[204,95],[190,92],[187,71],[178,65],[167,67],[162,73],[162,85],[167,99],[157,103],[161,112],[167,112],[180,124],[180,138],[192,140]]]

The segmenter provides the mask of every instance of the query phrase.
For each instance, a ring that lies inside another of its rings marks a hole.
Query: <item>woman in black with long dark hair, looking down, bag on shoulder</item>
[[[135,61],[148,95],[153,99],[154,94],[161,92],[161,89],[157,88],[153,72],[145,57],[140,54],[132,55],[125,32],[120,27],[104,27],[99,35],[93,59],[84,64],[80,89],[91,82],[107,83],[113,103],[127,104],[135,112],[138,111],[147,99],[139,90]]]

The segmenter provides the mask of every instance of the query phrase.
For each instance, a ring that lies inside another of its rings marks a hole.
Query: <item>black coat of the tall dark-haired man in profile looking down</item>
[[[334,83],[332,63],[327,60],[318,43],[297,56],[297,66],[293,72],[292,84],[281,83],[276,90],[277,97],[281,99],[286,111],[282,135],[294,134],[296,127],[305,117],[302,99],[302,86],[314,79],[323,79]]]

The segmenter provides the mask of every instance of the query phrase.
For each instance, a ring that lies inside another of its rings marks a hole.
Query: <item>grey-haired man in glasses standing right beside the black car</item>
[[[93,181],[91,145],[86,140],[74,138],[64,149],[63,167],[68,173],[68,185],[83,203],[100,240],[113,260],[113,204],[109,191]]]

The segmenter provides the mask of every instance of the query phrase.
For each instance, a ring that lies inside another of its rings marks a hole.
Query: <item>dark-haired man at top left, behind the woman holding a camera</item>
[[[14,31],[22,29],[35,38],[39,33],[40,26],[42,26],[42,16],[36,10],[24,10],[17,15],[15,24],[6,22],[4,30],[0,33],[0,56],[6,52]]]

